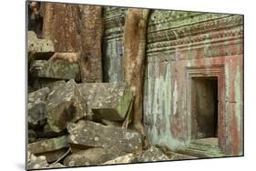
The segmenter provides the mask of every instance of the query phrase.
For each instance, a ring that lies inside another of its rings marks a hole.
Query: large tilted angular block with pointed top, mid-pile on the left
[[[86,108],[76,82],[70,80],[65,86],[49,94],[46,104],[47,122],[53,131],[61,132],[66,128],[67,122],[76,122],[87,116]]]

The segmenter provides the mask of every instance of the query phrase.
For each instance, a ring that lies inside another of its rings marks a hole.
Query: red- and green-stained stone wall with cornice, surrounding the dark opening
[[[191,139],[191,78],[218,77],[219,141],[242,154],[243,17],[152,10],[144,124],[151,143],[179,150]]]

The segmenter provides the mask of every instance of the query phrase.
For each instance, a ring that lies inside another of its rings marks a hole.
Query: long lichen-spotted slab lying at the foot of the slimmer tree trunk
[[[70,144],[94,147],[113,147],[119,151],[132,153],[141,150],[141,136],[136,131],[113,126],[103,126],[91,121],[80,120],[68,124]]]

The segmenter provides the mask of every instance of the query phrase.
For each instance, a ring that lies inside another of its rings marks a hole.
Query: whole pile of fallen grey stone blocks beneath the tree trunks
[[[157,147],[143,150],[128,128],[128,85],[79,83],[77,63],[51,61],[50,41],[28,40],[28,169],[169,160]]]

